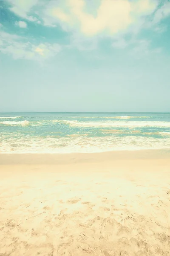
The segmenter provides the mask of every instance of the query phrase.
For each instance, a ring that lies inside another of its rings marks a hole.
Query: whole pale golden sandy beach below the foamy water
[[[0,154],[0,256],[169,256],[170,151]]]

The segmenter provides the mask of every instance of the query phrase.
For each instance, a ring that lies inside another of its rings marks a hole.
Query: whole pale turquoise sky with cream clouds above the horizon
[[[169,0],[0,0],[0,112],[170,112]]]

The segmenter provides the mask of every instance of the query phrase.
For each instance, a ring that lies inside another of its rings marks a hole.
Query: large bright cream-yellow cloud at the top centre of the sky
[[[94,17],[85,12],[86,4],[85,0],[53,2],[45,9],[45,23],[49,21],[49,24],[55,25],[62,22],[89,37],[103,32],[114,35],[136,23],[143,15],[151,14],[157,5],[155,0],[102,0]]]

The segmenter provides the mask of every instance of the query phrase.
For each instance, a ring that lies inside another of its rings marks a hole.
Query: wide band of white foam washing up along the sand
[[[2,140],[1,153],[94,153],[170,148],[170,138],[153,137],[11,137]]]

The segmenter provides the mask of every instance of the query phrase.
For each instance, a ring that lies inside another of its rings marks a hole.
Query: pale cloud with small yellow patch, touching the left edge
[[[55,56],[61,51],[58,44],[38,44],[34,45],[29,41],[24,42],[24,38],[11,35],[0,31],[0,52],[12,55],[14,59],[28,59],[42,61],[44,59]]]

